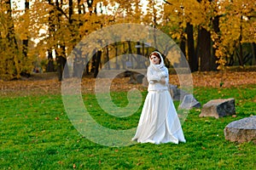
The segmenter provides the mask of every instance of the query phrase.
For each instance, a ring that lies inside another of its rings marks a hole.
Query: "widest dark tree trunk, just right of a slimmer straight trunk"
[[[201,26],[198,29],[196,55],[200,59],[200,71],[211,71],[211,34]]]

